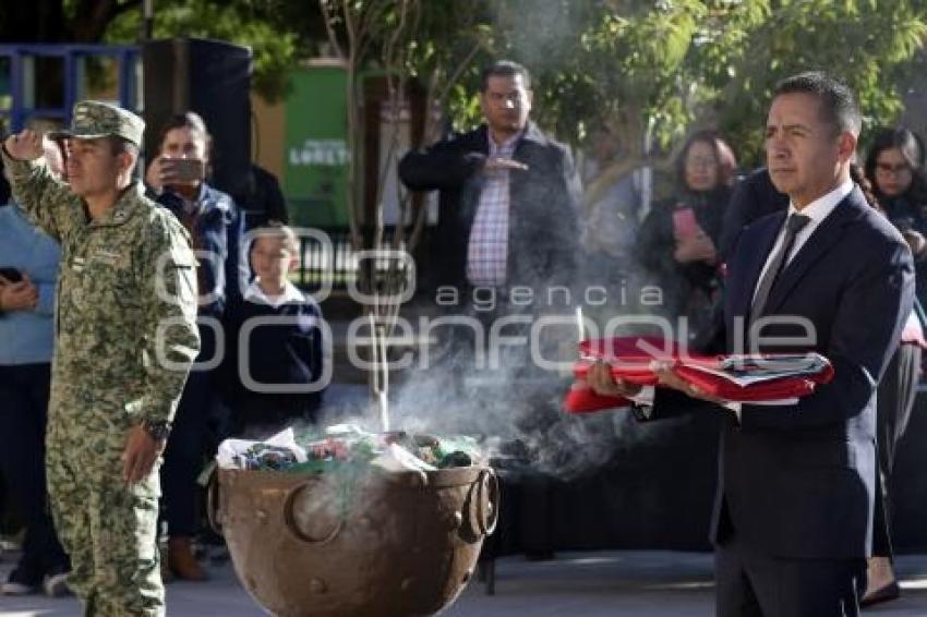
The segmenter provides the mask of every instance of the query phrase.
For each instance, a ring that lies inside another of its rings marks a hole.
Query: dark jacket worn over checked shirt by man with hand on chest
[[[489,155],[485,125],[410,152],[399,178],[412,191],[441,191],[433,264],[437,285],[467,287],[467,249]],[[515,148],[527,171],[510,172],[507,286],[565,285],[576,267],[579,179],[566,147],[529,122]]]

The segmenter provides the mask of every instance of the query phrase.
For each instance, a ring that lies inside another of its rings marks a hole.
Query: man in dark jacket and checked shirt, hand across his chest
[[[510,290],[570,281],[579,178],[567,148],[528,117],[527,69],[501,61],[482,73],[485,124],[410,152],[399,178],[412,191],[441,191],[434,238],[437,283]]]

